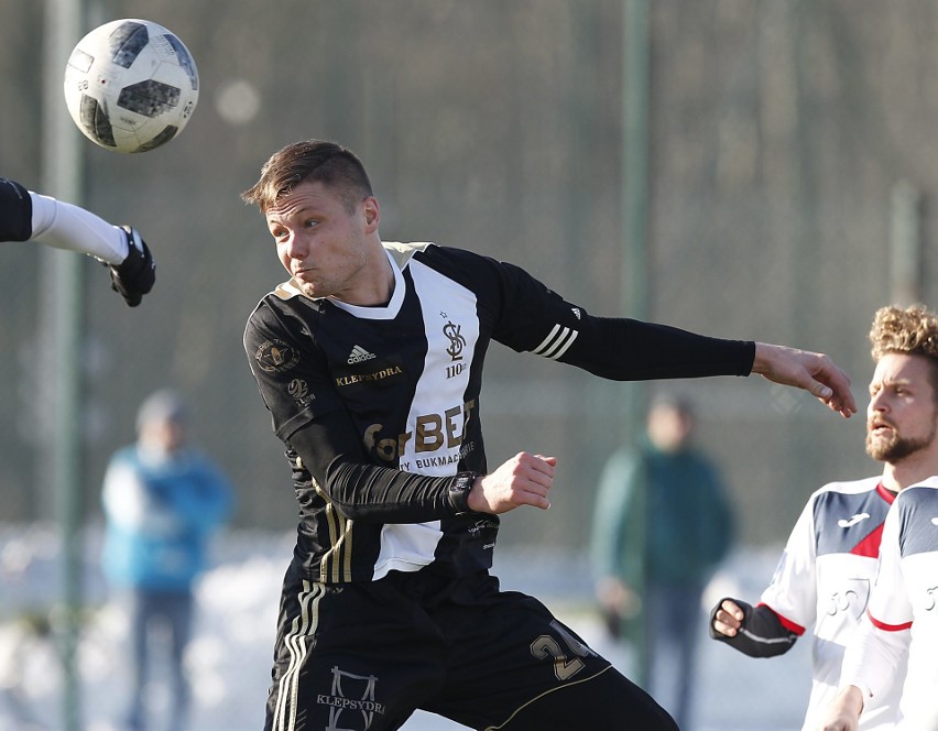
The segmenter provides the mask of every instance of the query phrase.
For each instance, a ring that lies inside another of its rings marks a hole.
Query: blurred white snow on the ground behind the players
[[[98,536],[86,536],[85,598],[89,609],[79,644],[83,731],[122,731],[127,697],[123,643],[127,623],[96,568]],[[62,678],[54,642],[44,632],[58,586],[57,536],[50,526],[0,526],[0,731],[64,728]],[[216,568],[199,582],[199,615],[187,665],[193,688],[192,731],[260,731],[270,683],[276,602],[292,554],[292,536],[231,533],[218,545]],[[727,594],[757,598],[778,549],[738,550],[716,577],[707,603]],[[538,597],[598,652],[630,672],[628,652],[611,644],[591,605],[582,556],[546,549],[502,550],[495,572],[505,589]],[[702,622],[702,620],[701,620]],[[706,626],[701,626],[701,635]],[[808,643],[772,661],[744,657],[701,640],[698,723],[685,731],[788,731],[800,728],[810,688]],[[658,698],[667,706],[666,698]],[[159,683],[148,690],[154,716],[168,698]],[[589,719],[583,719],[588,728]],[[460,729],[416,713],[405,731]],[[154,725],[153,731],[161,731]]]

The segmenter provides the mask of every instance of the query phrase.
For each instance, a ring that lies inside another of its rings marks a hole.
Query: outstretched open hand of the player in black
[[[752,372],[804,389],[847,418],[857,413],[850,378],[824,353],[756,342]]]

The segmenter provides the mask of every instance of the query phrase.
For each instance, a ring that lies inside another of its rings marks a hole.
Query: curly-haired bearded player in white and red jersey
[[[831,482],[795,524],[760,603],[722,599],[710,635],[752,657],[786,653],[814,625],[814,679],[803,729],[818,728],[837,695],[844,647],[860,624],[877,570],[883,523],[896,494],[938,474],[938,316],[921,306],[877,310],[870,331],[875,371],[866,452],[877,477]],[[861,731],[892,729],[905,664],[868,698]]]

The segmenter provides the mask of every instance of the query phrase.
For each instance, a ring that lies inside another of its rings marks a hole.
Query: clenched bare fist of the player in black
[[[522,451],[501,465],[491,474],[476,480],[469,492],[469,510],[478,513],[506,513],[520,505],[547,510],[547,492],[554,484],[556,457]]]

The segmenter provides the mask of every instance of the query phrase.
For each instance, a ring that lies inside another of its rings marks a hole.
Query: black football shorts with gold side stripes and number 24
[[[265,731],[399,729],[416,709],[472,729],[677,728],[544,604],[486,572],[287,588],[272,677]],[[664,720],[618,723],[644,714]]]

